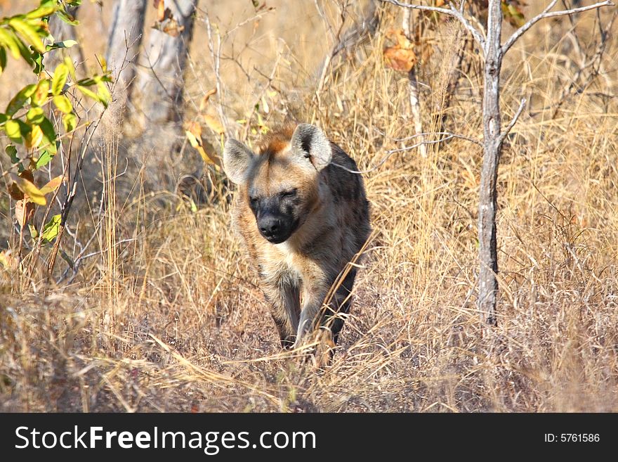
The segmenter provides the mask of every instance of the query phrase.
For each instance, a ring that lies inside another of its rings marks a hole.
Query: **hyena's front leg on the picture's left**
[[[298,285],[285,277],[264,282],[264,296],[270,304],[270,314],[279,331],[281,345],[284,348],[291,348],[296,340],[298,316],[301,311]]]

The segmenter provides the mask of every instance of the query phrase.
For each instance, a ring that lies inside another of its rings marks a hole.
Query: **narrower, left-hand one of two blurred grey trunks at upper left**
[[[121,108],[131,96],[131,83],[142,44],[147,0],[116,0],[107,41],[107,65],[114,76],[113,105]],[[112,111],[116,112],[116,111]]]

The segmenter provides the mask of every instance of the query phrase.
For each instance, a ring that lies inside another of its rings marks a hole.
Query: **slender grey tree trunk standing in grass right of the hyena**
[[[480,270],[478,274],[478,309],[490,326],[497,325],[498,255],[496,241],[496,207],[498,162],[502,147],[500,118],[500,70],[502,50],[502,11],[500,0],[489,0],[487,39],[485,42],[485,84],[482,103],[483,162],[478,203],[478,240]]]

